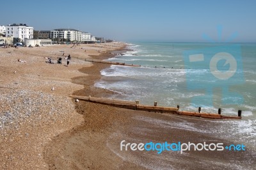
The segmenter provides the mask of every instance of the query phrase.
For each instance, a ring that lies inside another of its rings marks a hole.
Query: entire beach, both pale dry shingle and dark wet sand
[[[220,129],[218,121],[74,102],[68,97],[111,97],[114,92],[93,86],[100,70],[109,65],[83,59],[110,58],[113,55],[104,51],[123,46],[1,49],[1,169],[253,169],[252,150],[120,151],[122,140],[236,143],[207,133]],[[71,54],[70,66],[45,63],[45,57],[57,58],[63,51]]]

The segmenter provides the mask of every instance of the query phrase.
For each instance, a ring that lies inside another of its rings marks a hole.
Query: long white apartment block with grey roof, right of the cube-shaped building
[[[54,42],[81,42],[82,40],[82,32],[76,29],[54,29],[50,36]]]

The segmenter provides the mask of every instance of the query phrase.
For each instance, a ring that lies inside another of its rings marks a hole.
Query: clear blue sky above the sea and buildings
[[[254,0],[13,0],[1,2],[0,25],[73,28],[124,42],[225,42],[232,35],[230,42],[256,42],[255,7]]]

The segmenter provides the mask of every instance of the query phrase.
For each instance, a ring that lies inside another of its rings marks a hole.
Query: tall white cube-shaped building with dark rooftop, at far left
[[[13,38],[20,38],[21,41],[24,39],[33,38],[33,27],[29,27],[26,24],[12,24],[6,26],[6,37],[13,36]]]

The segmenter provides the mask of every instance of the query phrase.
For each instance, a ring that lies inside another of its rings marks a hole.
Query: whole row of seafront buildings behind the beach
[[[34,27],[27,26],[26,24],[0,26],[0,40],[2,40],[2,42],[4,40],[5,44],[10,44],[10,39],[12,38],[12,43],[25,42],[25,40],[29,39],[47,39],[52,40],[52,43],[97,42],[95,36],[76,29],[61,28],[51,31],[35,31]]]

